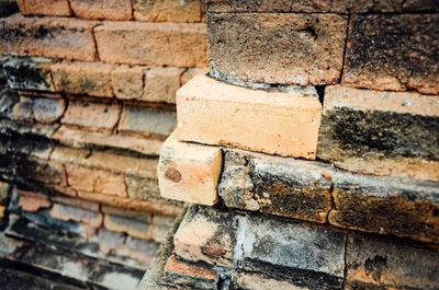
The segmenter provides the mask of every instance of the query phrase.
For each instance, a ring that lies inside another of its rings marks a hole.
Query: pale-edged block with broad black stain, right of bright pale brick
[[[437,100],[327,86],[317,155],[348,171],[439,181]]]

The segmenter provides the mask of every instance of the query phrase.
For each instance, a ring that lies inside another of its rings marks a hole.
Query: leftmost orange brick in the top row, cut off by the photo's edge
[[[68,0],[18,0],[23,15],[70,16]]]

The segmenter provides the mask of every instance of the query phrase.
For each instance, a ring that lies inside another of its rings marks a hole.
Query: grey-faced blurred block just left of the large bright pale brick
[[[173,131],[176,124],[177,118],[173,112],[125,105],[119,123],[119,130],[166,138]]]

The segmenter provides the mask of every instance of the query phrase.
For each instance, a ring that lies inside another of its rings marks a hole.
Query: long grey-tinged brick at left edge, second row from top
[[[0,53],[93,61],[95,22],[66,18],[0,19]]]

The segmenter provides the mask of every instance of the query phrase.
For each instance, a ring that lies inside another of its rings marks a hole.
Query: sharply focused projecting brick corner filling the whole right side
[[[144,289],[437,289],[436,1],[206,1]]]

